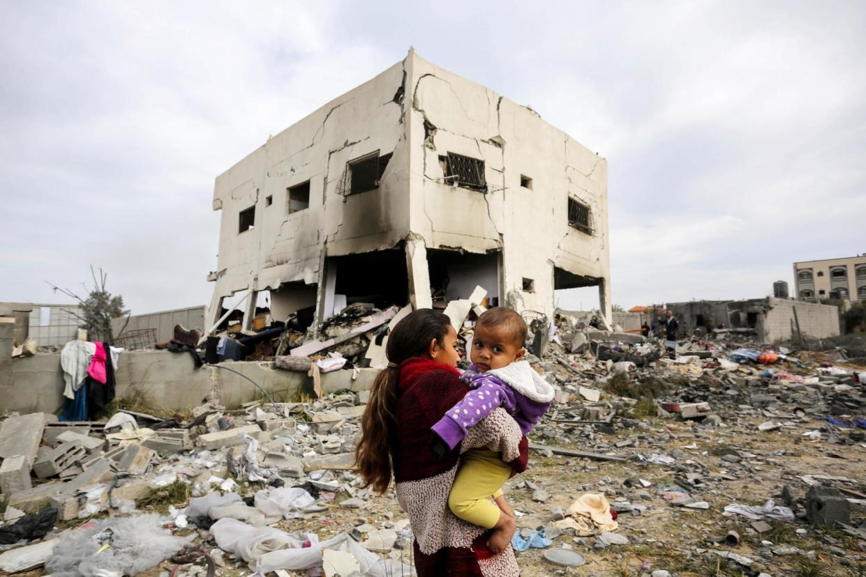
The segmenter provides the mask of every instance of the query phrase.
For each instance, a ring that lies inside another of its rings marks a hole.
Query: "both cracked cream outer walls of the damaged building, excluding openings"
[[[377,149],[393,152],[379,189],[340,196],[346,161]],[[487,194],[443,181],[439,157],[449,152],[484,161]],[[532,189],[521,187],[521,175],[533,179]],[[310,207],[289,215],[287,188],[307,179]],[[592,234],[569,227],[569,196],[591,208]],[[251,206],[255,228],[238,233],[238,214]],[[411,49],[217,177],[214,208],[223,220],[210,311],[250,286],[273,290],[298,281],[318,284],[322,309],[325,256],[407,240],[417,307],[430,306],[426,250],[437,248],[501,253],[501,303],[548,315],[554,267],[596,279],[611,317],[604,158],[526,106]],[[523,279],[533,280],[532,290],[523,290]]]

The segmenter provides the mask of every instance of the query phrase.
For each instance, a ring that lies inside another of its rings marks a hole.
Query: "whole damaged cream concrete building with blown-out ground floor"
[[[241,294],[249,328],[265,291],[275,320],[320,323],[476,285],[548,317],[554,290],[598,286],[611,318],[605,159],[413,49],[218,176],[213,208],[209,326]]]

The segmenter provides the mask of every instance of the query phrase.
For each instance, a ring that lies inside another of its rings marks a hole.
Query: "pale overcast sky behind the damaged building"
[[[410,45],[608,159],[618,305],[866,253],[866,3],[412,4],[0,0],[0,301],[206,304],[216,175]]]

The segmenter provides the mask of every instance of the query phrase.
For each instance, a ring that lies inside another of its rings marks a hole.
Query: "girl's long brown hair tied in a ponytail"
[[[364,486],[384,493],[391,484],[391,449],[397,438],[397,383],[400,363],[425,356],[430,343],[442,343],[451,321],[441,312],[419,309],[410,312],[391,330],[385,356],[389,366],[373,381],[370,401],[361,416],[361,439],[355,449],[355,464]]]

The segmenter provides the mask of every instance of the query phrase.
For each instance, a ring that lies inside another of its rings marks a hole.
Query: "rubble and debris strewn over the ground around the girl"
[[[462,346],[484,305],[446,310]],[[409,310],[350,305],[275,366],[313,380],[377,366]],[[728,336],[671,352],[599,317],[527,321],[527,358],[557,394],[506,487],[523,574],[866,566],[866,369]],[[315,393],[186,418],[5,415],[0,572],[413,574],[393,490],[362,489],[353,470],[369,394]]]

